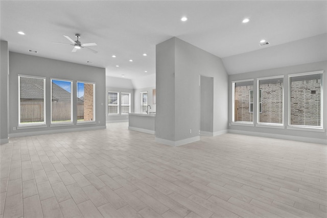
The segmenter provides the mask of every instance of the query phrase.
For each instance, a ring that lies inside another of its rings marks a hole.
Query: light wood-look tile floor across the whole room
[[[327,217],[326,148],[236,134],[174,148],[126,123],[11,138],[1,217]]]

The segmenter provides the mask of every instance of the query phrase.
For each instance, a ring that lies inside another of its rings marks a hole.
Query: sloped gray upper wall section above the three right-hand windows
[[[324,61],[327,60],[327,34],[285,44],[272,43],[259,50],[225,57],[222,60],[228,74]]]

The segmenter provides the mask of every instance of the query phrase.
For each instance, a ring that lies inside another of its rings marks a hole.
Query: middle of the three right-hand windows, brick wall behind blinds
[[[283,78],[258,79],[258,123],[283,124]]]

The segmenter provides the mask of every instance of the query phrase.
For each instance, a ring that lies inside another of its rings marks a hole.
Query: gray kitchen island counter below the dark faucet
[[[128,129],[138,132],[154,134],[155,113],[129,113]]]

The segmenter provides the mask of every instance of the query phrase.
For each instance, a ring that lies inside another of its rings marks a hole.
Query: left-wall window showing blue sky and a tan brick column
[[[77,82],[77,122],[95,120],[94,83]]]

